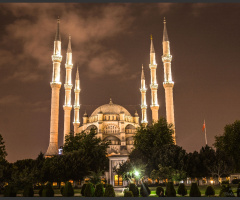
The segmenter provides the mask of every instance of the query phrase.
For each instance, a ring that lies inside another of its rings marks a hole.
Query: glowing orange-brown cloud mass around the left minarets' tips
[[[56,31],[56,17],[60,15],[62,37],[62,66],[68,34],[72,36],[73,59],[87,67],[89,76],[119,75],[127,63],[118,60],[114,50],[102,53],[104,41],[127,32],[134,21],[127,4],[4,4],[5,13],[13,20],[4,27],[0,39],[0,70],[11,64],[7,81],[37,81],[52,68],[51,55]],[[125,16],[128,16],[126,20]],[[12,47],[12,48],[11,48]],[[45,74],[44,74],[45,73]]]

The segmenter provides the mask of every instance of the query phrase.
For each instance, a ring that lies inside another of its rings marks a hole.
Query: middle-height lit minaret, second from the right
[[[152,110],[152,122],[158,121],[158,99],[157,99],[157,89],[158,89],[158,84],[157,84],[157,77],[156,77],[156,69],[157,69],[157,63],[156,63],[156,58],[155,58],[155,51],[154,51],[154,46],[153,46],[153,39],[151,35],[151,46],[150,46],[150,64],[149,68],[151,71],[151,110]]]

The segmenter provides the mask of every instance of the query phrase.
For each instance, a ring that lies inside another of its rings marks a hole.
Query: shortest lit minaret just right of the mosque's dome
[[[146,85],[145,85],[145,76],[144,76],[144,71],[143,71],[143,65],[142,65],[142,75],[141,75],[141,109],[142,109],[142,120],[141,124],[143,126],[146,126],[148,121],[147,121],[147,103],[146,103]]]

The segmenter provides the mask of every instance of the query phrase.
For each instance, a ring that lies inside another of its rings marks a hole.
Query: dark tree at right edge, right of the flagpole
[[[224,127],[223,135],[215,137],[214,146],[217,150],[225,152],[233,161],[233,171],[240,171],[240,120],[236,120],[233,124],[227,124]]]

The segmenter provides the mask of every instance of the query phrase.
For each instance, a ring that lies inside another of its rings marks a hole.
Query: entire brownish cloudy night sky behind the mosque
[[[150,111],[150,35],[157,59],[159,115],[163,88],[163,18],[171,45],[177,144],[187,152],[209,145],[224,126],[240,119],[240,4],[21,3],[0,4],[0,134],[7,160],[46,152],[50,134],[53,42],[56,19],[62,38],[59,145],[63,137],[65,61],[72,36],[73,81],[80,74],[80,118],[100,105],[124,106],[141,117],[144,65]],[[72,90],[72,104],[74,92]],[[73,110],[72,110],[73,117]],[[71,127],[73,129],[72,123]]]

